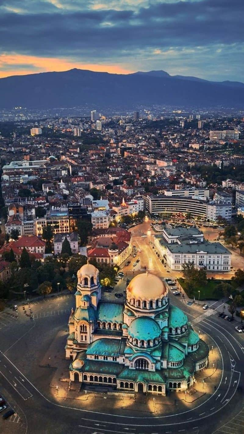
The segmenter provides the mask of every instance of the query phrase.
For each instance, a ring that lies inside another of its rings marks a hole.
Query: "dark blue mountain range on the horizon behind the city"
[[[243,108],[244,83],[212,82],[165,71],[109,74],[85,69],[41,72],[0,79],[0,108],[69,108],[139,105]]]

